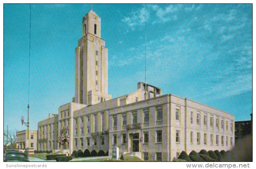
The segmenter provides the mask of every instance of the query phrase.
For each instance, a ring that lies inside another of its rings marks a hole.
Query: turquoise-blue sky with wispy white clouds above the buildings
[[[91,5],[32,5],[30,122],[75,95],[75,48]],[[252,5],[93,5],[108,48],[112,98],[137,82],[249,120]],[[4,128],[27,116],[29,5],[4,5]]]

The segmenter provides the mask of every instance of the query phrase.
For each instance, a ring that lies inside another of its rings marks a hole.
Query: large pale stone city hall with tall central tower
[[[135,86],[134,86],[135,88]],[[172,161],[181,151],[230,150],[233,115],[181,98],[143,82],[131,94],[108,94],[108,49],[101,18],[92,10],[82,18],[75,50],[75,97],[58,114],[38,123],[38,150],[71,154],[103,150],[143,160]]]

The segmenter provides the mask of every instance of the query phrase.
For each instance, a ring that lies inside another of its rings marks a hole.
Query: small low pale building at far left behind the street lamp
[[[27,130],[17,131],[16,143],[19,150],[25,151],[27,145],[29,145],[29,150],[37,150],[37,130],[29,130],[29,141],[27,139]]]

